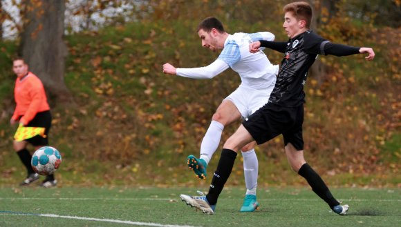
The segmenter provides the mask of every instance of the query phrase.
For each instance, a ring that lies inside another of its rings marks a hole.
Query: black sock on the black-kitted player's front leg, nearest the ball
[[[221,152],[220,160],[214,172],[212,184],[210,184],[209,193],[206,195],[206,199],[210,205],[217,203],[218,195],[224,188],[224,184],[230,177],[234,161],[236,159],[236,152],[230,149],[223,149]]]

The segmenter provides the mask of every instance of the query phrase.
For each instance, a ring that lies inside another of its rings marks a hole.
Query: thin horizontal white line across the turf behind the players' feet
[[[224,198],[235,199],[235,198]],[[238,198],[237,198],[238,199]],[[73,200],[73,201],[85,201],[85,200],[104,200],[104,201],[138,201],[138,200],[149,200],[149,201],[179,201],[180,198],[38,198],[38,197],[0,197],[1,200]],[[258,201],[318,201],[319,199],[258,199]],[[383,201],[383,202],[401,202],[401,199],[338,199],[340,201]]]

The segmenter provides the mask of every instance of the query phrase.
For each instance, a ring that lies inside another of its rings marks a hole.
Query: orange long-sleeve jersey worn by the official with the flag
[[[12,119],[26,126],[38,112],[50,110],[43,83],[32,72],[24,78],[17,78],[14,89],[15,106]]]

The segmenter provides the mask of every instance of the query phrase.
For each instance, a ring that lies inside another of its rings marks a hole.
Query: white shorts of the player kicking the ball
[[[264,106],[265,103],[268,103],[274,84],[272,83],[268,88],[263,89],[248,88],[240,85],[239,88],[236,88],[224,100],[232,101],[239,112],[241,112],[243,119],[246,119]]]

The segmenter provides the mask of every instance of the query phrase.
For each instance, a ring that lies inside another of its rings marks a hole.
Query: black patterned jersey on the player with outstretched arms
[[[326,39],[306,31],[287,42],[276,86],[269,102],[279,106],[294,107],[305,102],[304,86],[310,66],[317,55],[324,55]]]

